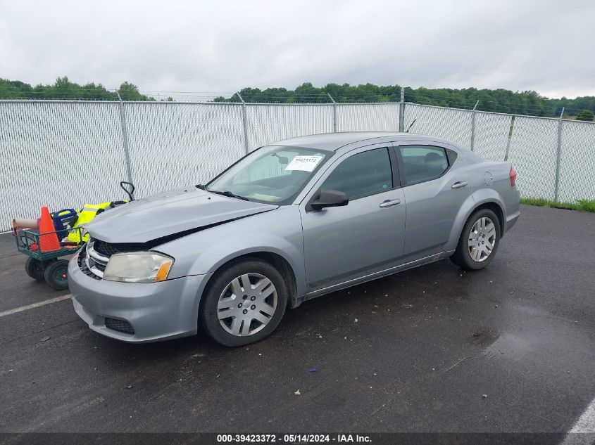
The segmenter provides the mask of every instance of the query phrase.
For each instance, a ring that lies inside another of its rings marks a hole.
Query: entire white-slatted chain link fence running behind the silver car
[[[402,118],[401,118],[402,117]],[[39,207],[82,207],[203,183],[282,138],[403,131],[513,162],[526,198],[595,197],[595,124],[413,103],[0,101],[0,230]]]

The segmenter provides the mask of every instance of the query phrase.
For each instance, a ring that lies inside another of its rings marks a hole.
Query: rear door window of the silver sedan
[[[449,169],[449,159],[441,147],[401,146],[407,184],[430,181]]]

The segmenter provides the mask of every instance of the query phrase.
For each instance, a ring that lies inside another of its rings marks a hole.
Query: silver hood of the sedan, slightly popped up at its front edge
[[[108,209],[93,219],[88,229],[93,238],[107,243],[149,243],[278,207],[182,188]]]

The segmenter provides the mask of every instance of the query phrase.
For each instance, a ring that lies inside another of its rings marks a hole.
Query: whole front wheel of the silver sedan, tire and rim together
[[[199,321],[225,346],[258,342],[277,328],[287,307],[281,273],[260,259],[234,262],[218,272],[203,295]]]

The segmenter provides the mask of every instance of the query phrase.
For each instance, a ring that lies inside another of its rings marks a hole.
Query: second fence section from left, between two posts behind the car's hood
[[[245,154],[241,105],[123,105],[137,197],[204,183]]]

